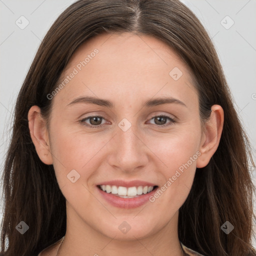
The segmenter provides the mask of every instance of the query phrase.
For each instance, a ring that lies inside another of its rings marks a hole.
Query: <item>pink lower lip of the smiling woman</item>
[[[149,201],[149,197],[154,194],[157,187],[155,187],[149,193],[141,194],[133,198],[122,198],[114,194],[104,192],[97,186],[96,188],[99,190],[99,193],[103,196],[103,198],[111,205],[119,208],[131,209],[131,208],[139,207],[144,203],[146,203],[147,201]]]

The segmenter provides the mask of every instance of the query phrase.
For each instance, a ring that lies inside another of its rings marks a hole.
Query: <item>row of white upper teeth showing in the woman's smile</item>
[[[116,185],[100,185],[100,188],[107,193],[116,194],[124,198],[135,197],[137,195],[141,195],[142,193],[146,194],[153,190],[153,186],[125,187]]]

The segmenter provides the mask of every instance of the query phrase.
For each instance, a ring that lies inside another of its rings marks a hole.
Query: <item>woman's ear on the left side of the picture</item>
[[[46,121],[41,116],[41,111],[38,106],[31,106],[28,114],[28,127],[30,136],[35,146],[35,150],[45,164],[52,164],[52,156],[50,153],[48,130]]]

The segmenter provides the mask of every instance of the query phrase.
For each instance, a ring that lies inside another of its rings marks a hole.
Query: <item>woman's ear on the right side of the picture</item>
[[[200,143],[200,156],[197,158],[196,167],[206,166],[217,150],[224,123],[224,111],[220,105],[212,105],[210,118],[205,123]]]

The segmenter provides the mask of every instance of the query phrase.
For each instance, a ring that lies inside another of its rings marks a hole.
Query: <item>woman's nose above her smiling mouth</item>
[[[120,126],[121,127],[121,126]],[[148,147],[143,136],[131,125],[126,131],[119,126],[109,145],[108,164],[124,172],[133,172],[145,167],[148,163]]]

